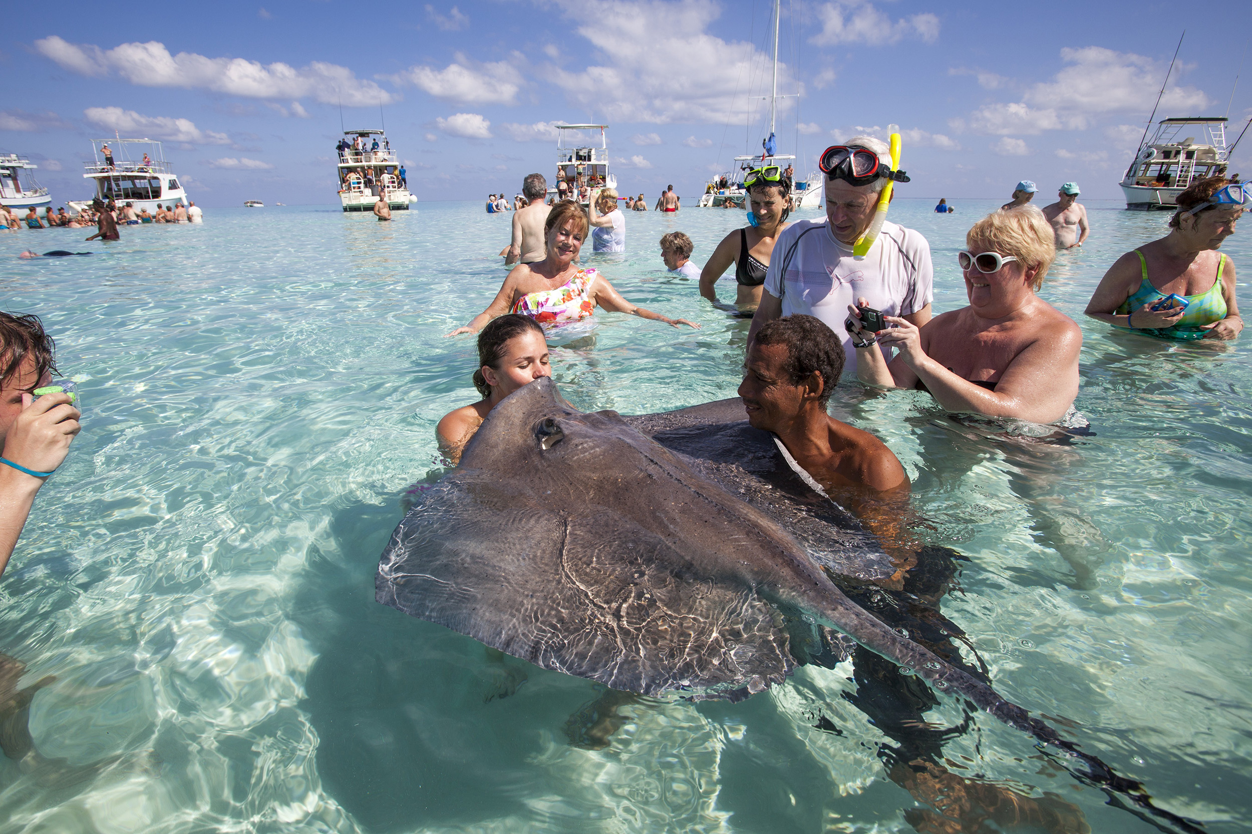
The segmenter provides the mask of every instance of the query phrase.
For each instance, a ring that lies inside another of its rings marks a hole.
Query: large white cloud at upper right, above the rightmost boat
[[[1060,58],[1068,66],[1030,86],[1020,101],[987,104],[949,124],[990,135],[1084,130],[1103,115],[1149,110],[1166,75],[1163,63],[1103,46],[1067,46]],[[1177,84],[1161,99],[1161,108],[1172,113],[1196,113],[1208,104],[1203,91]]]

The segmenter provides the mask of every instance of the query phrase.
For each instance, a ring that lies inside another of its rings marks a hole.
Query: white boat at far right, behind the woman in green
[[[1224,118],[1162,119],[1122,178],[1126,208],[1172,210],[1188,185],[1226,174],[1228,157]]]

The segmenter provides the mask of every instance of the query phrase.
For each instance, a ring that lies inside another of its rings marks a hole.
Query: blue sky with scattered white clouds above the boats
[[[334,203],[348,128],[386,119],[423,200],[552,174],[552,123],[605,121],[621,190],[692,202],[759,152],[767,0],[265,0],[150,10],[15,4],[0,46],[0,150],[40,164],[54,205],[89,195],[89,138],[165,142],[203,205]],[[1226,115],[1252,4],[1193,25],[1157,118]],[[1177,4],[784,0],[780,152],[904,129],[901,197],[1117,198],[1179,31]],[[16,33],[16,35],[15,35]],[[1252,64],[1229,142],[1252,115]],[[379,115],[379,103],[383,105]],[[749,111],[751,114],[749,115]],[[1232,170],[1252,175],[1252,130]]]

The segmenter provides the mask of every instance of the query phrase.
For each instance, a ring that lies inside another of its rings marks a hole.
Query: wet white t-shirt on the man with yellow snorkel
[[[780,288],[784,262],[786,292]],[[885,316],[908,316],[931,302],[933,284],[930,244],[920,233],[884,223],[865,258],[856,260],[850,245],[835,240],[825,219],[788,227],[774,244],[765,275],[765,292],[782,299],[784,316],[820,318],[843,341],[845,374],[856,373],[856,349],[844,328],[848,306],[864,298]],[[890,351],[883,354],[890,361]]]

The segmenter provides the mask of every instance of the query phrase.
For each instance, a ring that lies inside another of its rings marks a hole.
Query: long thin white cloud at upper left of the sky
[[[337,64],[313,61],[295,69],[288,64],[260,64],[242,58],[205,58],[195,53],[170,55],[164,44],[121,44],[103,50],[70,44],[56,35],[35,41],[46,58],[80,75],[118,74],[140,86],[204,89],[254,99],[313,98],[324,104],[342,100],[349,106],[377,106],[396,98],[373,81],[358,79]]]

